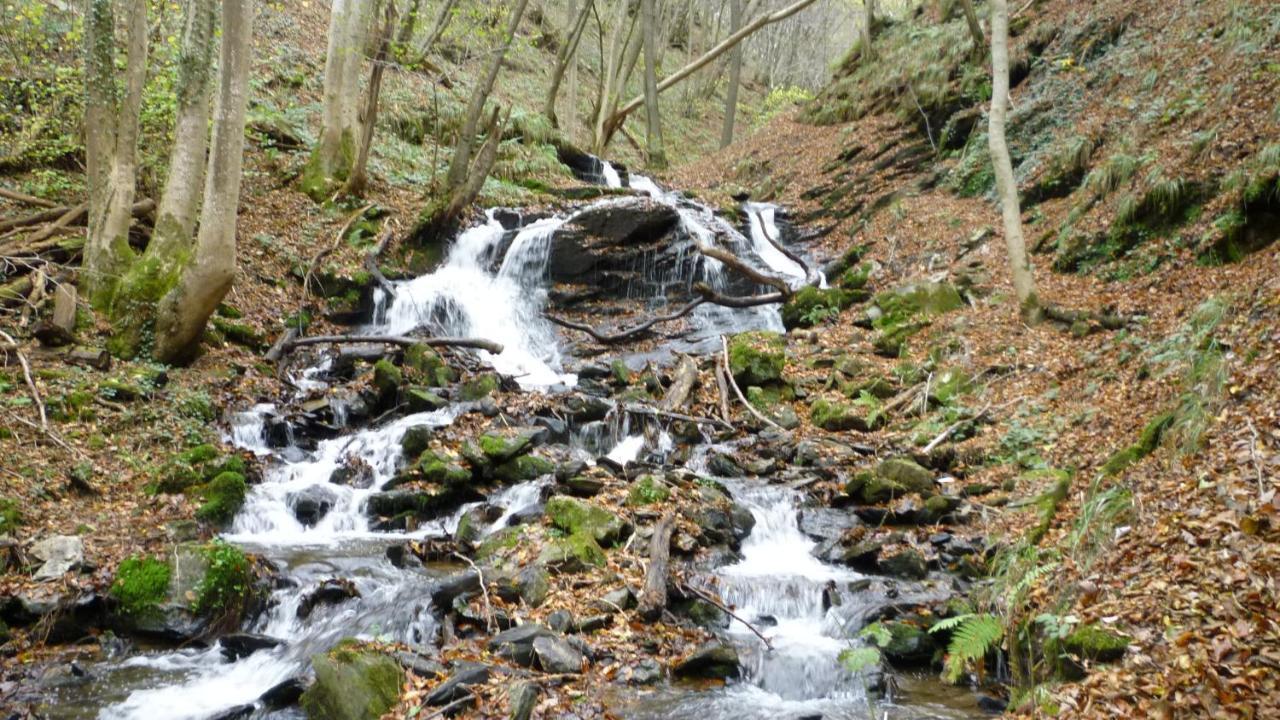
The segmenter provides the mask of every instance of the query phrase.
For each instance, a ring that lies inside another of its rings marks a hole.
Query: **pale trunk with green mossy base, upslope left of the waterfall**
[[[334,0],[324,64],[320,141],[302,174],[302,191],[317,202],[346,182],[360,136],[360,65],[365,12],[361,0]]]

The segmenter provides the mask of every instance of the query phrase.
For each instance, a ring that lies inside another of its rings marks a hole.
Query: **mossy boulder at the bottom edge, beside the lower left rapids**
[[[372,720],[399,700],[404,670],[390,656],[356,641],[344,641],[311,659],[316,682],[302,693],[311,720]]]

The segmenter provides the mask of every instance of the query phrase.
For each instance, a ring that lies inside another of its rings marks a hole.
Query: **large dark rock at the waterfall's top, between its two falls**
[[[675,208],[649,197],[593,205],[552,236],[550,279],[612,288],[620,273],[630,277],[637,259],[658,252],[658,241],[678,223]]]

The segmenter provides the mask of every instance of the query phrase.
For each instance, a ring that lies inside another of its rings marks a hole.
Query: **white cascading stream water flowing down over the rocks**
[[[623,183],[607,163],[600,165],[600,177],[613,187]],[[649,178],[632,174],[630,187],[675,208],[680,217],[676,246],[667,251],[676,261],[641,268],[644,282],[628,291],[635,300],[657,302],[666,288],[695,281],[724,287],[730,282],[724,268],[698,255],[694,243],[699,242],[719,243],[762,269],[795,283],[804,282],[804,268],[769,242],[771,237],[782,237],[777,208],[758,204],[744,208],[748,218],[744,233],[710,209],[668,192]],[[616,201],[604,199],[591,206]],[[511,215],[490,210],[483,222],[454,238],[436,270],[393,283],[390,291],[375,291],[372,318],[361,332],[425,331],[492,340],[504,350],[497,355],[479,351],[480,359],[516,378],[522,388],[550,393],[575,387],[579,378],[571,370],[572,359],[566,357],[558,331],[543,318],[550,286],[547,275],[552,236],[571,215],[515,222]],[[662,361],[676,351],[716,350],[723,333],[782,331],[774,306],[732,310],[708,304],[694,313],[690,324],[692,332],[628,361]],[[305,389],[324,387],[328,363],[301,373],[294,383]],[[387,547],[406,538],[447,536],[467,506],[413,532],[381,532],[370,525],[365,502],[396,475],[403,461],[399,441],[406,429],[448,425],[471,409],[470,404],[456,402],[381,425],[348,429],[315,443],[314,448],[269,446],[266,424],[275,410],[271,405],[232,415],[224,429],[225,439],[261,457],[265,470],[264,480],[251,489],[223,537],[270,560],[288,578],[291,587],[275,591],[269,610],[246,628],[284,642],[234,662],[224,659],[216,643],[209,648],[138,651],[102,661],[87,669],[92,682],[56,691],[42,708],[45,715],[68,720],[303,717],[297,707],[273,711],[255,703],[273,687],[306,675],[311,656],[344,637],[399,641],[417,647],[435,643],[438,626],[429,607],[431,588],[457,568],[399,569],[388,560]],[[658,439],[650,447],[646,436],[639,429],[632,432],[625,419],[577,428],[568,443],[584,461],[593,462],[600,456],[622,465],[641,457],[666,461],[672,442],[666,432],[652,434]],[[694,448],[686,466],[710,474],[705,462],[708,450]],[[349,456],[360,457],[371,469],[369,487],[330,483],[330,475]],[[900,688],[899,693],[869,696],[867,687],[883,685],[883,678],[850,673],[837,656],[856,642],[852,638],[870,609],[886,602],[888,591],[883,579],[867,578],[810,555],[817,543],[800,529],[803,497],[797,489],[762,480],[719,480],[736,502],[751,511],[755,527],[742,542],[741,559],[710,570],[700,582],[719,592],[739,615],[760,625],[773,650],[765,648],[746,625],[733,621],[724,635],[739,647],[744,678],[710,689],[676,683],[649,689],[620,685],[609,691],[617,715],[699,720],[980,716],[968,691],[905,674],[892,683]],[[502,512],[485,532],[502,529],[512,514],[539,503],[549,482],[544,478],[520,483],[489,497],[488,503]],[[317,486],[332,497],[332,509],[314,525],[303,525],[293,505],[301,493]],[[320,605],[300,619],[300,598],[334,577],[353,582],[360,597]],[[928,583],[919,585],[895,588],[892,594],[919,592],[927,597],[933,592]],[[838,597],[838,605],[831,602],[828,591]]]

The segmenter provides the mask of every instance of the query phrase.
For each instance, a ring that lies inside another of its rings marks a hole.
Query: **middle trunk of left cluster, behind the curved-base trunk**
[[[205,184],[218,5],[212,0],[187,0],[184,5],[173,152],[156,210],[155,232],[147,245],[147,254],[155,256],[172,256],[191,245],[200,211],[200,191]]]

